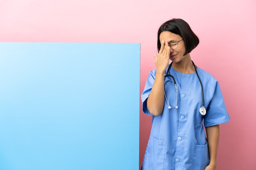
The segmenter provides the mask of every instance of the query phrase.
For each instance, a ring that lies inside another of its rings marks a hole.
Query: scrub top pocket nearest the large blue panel
[[[162,170],[164,168],[165,150],[166,141],[156,139],[150,135],[142,170]]]

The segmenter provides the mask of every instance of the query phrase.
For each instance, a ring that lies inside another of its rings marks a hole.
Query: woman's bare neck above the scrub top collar
[[[178,63],[173,62],[172,67],[177,72],[185,74],[191,74],[195,72],[195,68],[189,54],[187,54],[187,56],[184,59],[182,59],[182,61],[179,61]]]

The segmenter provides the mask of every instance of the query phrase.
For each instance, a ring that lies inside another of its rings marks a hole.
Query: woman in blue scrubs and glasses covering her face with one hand
[[[141,94],[153,117],[141,169],[215,170],[219,124],[230,120],[220,85],[191,60],[199,39],[184,20],[165,22],[157,36],[157,68]]]

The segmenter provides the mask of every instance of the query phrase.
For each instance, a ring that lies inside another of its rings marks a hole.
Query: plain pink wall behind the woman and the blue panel
[[[0,41],[141,43],[142,92],[159,26],[184,19],[200,39],[191,57],[219,81],[231,117],[220,126],[217,170],[255,170],[255,9],[255,0],[0,0]],[[141,111],[140,166],[150,126]]]

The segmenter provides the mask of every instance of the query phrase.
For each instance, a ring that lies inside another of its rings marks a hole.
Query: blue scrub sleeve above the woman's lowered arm
[[[212,100],[207,107],[207,113],[204,116],[204,126],[214,126],[229,122],[229,114],[224,103],[224,99],[220,90],[220,85],[216,82],[215,91]]]

